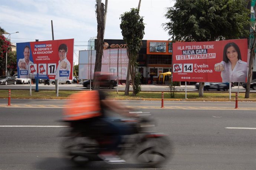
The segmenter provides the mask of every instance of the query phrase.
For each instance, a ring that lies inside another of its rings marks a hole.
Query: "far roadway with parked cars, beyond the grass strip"
[[[36,89],[36,85],[33,84],[31,85],[32,90]],[[30,84],[16,84],[16,85],[0,85],[0,89],[30,89]],[[39,91],[40,90],[55,90],[55,85],[43,85],[42,83],[39,84],[38,86]],[[110,91],[124,91],[125,90],[125,86],[124,85],[119,85],[118,89],[117,87],[115,87],[114,89],[108,89],[105,88],[106,90],[110,90]],[[142,91],[169,91],[168,90],[168,86],[167,85],[141,85],[141,89]],[[89,90],[85,87],[83,87],[81,84],[59,84],[59,90]],[[130,86],[129,88],[130,91],[132,91],[132,86]],[[198,92],[198,90],[195,88],[194,85],[181,85],[180,87],[177,87],[177,91],[186,91],[187,92]],[[217,90],[209,90],[212,92],[218,92]],[[234,86],[231,89],[231,92],[245,92],[245,89],[240,86],[238,89],[238,86]],[[223,92],[223,91],[220,91]],[[250,92],[256,92],[256,90],[250,90]]]

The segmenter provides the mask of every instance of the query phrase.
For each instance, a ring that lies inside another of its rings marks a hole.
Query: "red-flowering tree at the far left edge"
[[[5,30],[0,27],[0,70],[5,70],[6,52],[11,50],[11,43],[4,37]],[[8,54],[8,53],[7,53]],[[0,73],[1,75],[2,73]]]

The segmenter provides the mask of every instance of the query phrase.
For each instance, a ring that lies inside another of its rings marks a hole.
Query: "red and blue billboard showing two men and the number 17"
[[[16,45],[18,78],[72,79],[74,39]]]

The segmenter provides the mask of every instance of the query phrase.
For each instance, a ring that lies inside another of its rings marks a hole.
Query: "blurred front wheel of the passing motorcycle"
[[[140,143],[135,159],[143,167],[157,167],[167,162],[173,154],[173,147],[167,137],[150,138]]]

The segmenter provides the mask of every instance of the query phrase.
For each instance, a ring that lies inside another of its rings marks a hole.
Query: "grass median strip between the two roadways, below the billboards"
[[[69,95],[76,93],[79,91],[67,91],[67,90],[59,90],[59,97],[57,97],[55,90],[41,90],[39,92],[35,92],[32,90],[32,96],[30,96],[29,90],[11,90],[11,98],[68,98]],[[8,90],[0,90],[0,98],[8,98]],[[129,96],[124,95],[124,92],[116,91],[107,91],[106,94],[113,99],[161,99],[161,92],[140,92],[137,96],[132,96],[132,92],[129,92]],[[238,99],[244,99],[244,92],[240,92]],[[236,93],[231,93],[231,99],[235,99]],[[168,92],[164,92],[164,99],[172,99]],[[185,99],[185,92],[178,92],[175,94],[174,99]],[[229,93],[227,92],[204,92],[203,97],[198,96],[198,92],[187,92],[187,99],[229,99]],[[256,100],[256,93],[250,93],[250,100]]]

